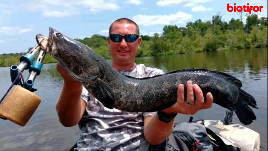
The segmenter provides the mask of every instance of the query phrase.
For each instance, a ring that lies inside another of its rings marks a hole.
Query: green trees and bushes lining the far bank
[[[248,15],[246,24],[240,19],[232,18],[226,22],[221,18],[218,13],[211,21],[198,19],[188,22],[186,27],[164,26],[162,35],[141,35],[143,41],[137,57],[267,47],[267,17],[259,19],[256,14]],[[111,59],[105,36],[96,34],[76,40],[88,45],[103,58]],[[25,53],[0,55],[0,67],[18,64],[20,56]],[[43,63],[55,62],[47,54]]]

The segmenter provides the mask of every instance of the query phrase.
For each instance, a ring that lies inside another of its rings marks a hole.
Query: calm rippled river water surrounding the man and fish
[[[165,72],[205,68],[225,72],[241,80],[242,89],[254,96],[259,107],[252,109],[257,119],[246,127],[260,134],[260,149],[267,150],[267,48],[142,57],[136,62]],[[77,141],[80,134],[78,126],[62,126],[55,111],[62,87],[62,78],[55,67],[55,63],[44,64],[36,78],[33,87],[37,91],[34,93],[42,102],[25,127],[0,119],[0,150],[69,150]],[[28,70],[23,75],[26,79]],[[10,85],[9,67],[0,68],[1,98]],[[223,120],[225,111],[225,108],[213,104],[210,109],[193,115],[193,120]],[[179,114],[176,122],[188,121],[189,117]],[[241,124],[235,114],[233,122]]]

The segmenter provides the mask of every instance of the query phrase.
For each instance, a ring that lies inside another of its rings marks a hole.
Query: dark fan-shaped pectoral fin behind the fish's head
[[[114,105],[114,92],[111,87],[102,81],[100,78],[96,79],[96,87],[94,88],[94,96],[105,107],[113,109]]]

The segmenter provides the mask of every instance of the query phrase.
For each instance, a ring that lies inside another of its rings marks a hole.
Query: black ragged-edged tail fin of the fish
[[[256,100],[243,90],[240,90],[239,95],[235,113],[242,124],[251,124],[253,120],[256,120],[256,116],[249,106],[258,109],[258,107],[256,107]]]

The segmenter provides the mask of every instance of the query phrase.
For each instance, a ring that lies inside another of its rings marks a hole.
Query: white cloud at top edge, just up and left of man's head
[[[119,6],[116,3],[104,2],[103,0],[84,0],[77,3],[84,8],[90,8],[87,13],[95,13],[100,10],[118,10]]]

